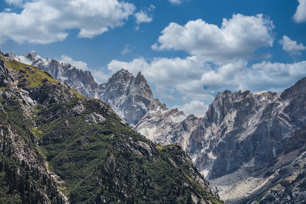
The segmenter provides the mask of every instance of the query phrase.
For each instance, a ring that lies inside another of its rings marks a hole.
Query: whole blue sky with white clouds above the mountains
[[[0,0],[0,50],[145,76],[203,116],[218,91],[282,92],[306,77],[306,0]]]

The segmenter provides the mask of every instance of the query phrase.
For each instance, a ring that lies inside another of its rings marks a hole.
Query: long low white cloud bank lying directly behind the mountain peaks
[[[296,81],[306,76],[306,61],[284,64],[263,61],[248,66],[248,62],[240,60],[221,66],[208,65],[196,56],[181,58],[144,58],[131,62],[113,60],[108,69],[116,72],[121,68],[128,69],[133,75],[143,73],[149,84],[155,89],[154,97],[161,100],[185,100],[189,105],[177,106],[186,113],[194,107],[204,107],[212,102],[217,91],[276,91],[282,92]],[[179,97],[179,98],[178,98]],[[202,101],[202,103],[191,103]]]

